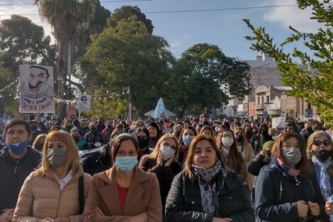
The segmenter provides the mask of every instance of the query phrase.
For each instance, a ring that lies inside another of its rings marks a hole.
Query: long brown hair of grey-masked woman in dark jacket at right
[[[300,146],[300,153],[302,154],[300,162],[298,162],[295,167],[300,170],[300,174],[302,174],[303,176],[311,174],[313,169],[310,165],[309,160],[307,159],[305,143],[303,142],[303,138],[301,138],[298,133],[287,131],[279,135],[271,150],[272,157],[277,157],[278,159],[282,160],[282,162],[286,163],[286,159],[283,157],[282,152],[283,143],[285,143],[286,140],[290,138],[296,138],[298,140]]]

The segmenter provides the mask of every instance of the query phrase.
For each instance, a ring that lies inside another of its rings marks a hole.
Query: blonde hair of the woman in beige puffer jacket
[[[50,141],[59,140],[60,142],[66,144],[67,146],[67,161],[65,163],[64,170],[65,172],[68,172],[69,170],[72,170],[72,174],[76,174],[79,172],[79,169],[81,168],[80,159],[77,151],[77,144],[75,143],[72,136],[67,133],[66,131],[51,131],[47,134],[45,138],[45,143],[43,146],[43,157],[42,162],[40,163],[40,166],[37,170],[35,170],[34,175],[35,176],[43,176],[45,174],[45,171],[52,167],[50,165],[49,160],[47,160],[47,145]]]

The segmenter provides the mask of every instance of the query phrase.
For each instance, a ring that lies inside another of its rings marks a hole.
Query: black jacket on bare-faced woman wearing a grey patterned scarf
[[[232,222],[254,222],[254,211],[237,175],[228,172],[224,179],[225,184],[218,194],[220,218],[232,218]],[[213,214],[203,212],[197,179],[192,182],[188,179],[188,172],[185,170],[174,177],[166,198],[165,216],[168,222],[210,222],[213,220]]]

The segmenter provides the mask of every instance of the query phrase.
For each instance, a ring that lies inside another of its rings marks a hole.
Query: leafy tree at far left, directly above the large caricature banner
[[[18,65],[55,65],[55,45],[44,29],[23,16],[11,16],[0,23],[0,61],[13,72],[9,81],[18,77]]]

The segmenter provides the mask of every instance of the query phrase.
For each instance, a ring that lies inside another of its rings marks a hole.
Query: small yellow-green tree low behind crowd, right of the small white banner
[[[120,94],[103,94],[101,89],[94,90],[91,98],[91,110],[82,112],[82,115],[92,118],[113,119],[119,116],[125,117],[128,113],[128,101]]]

